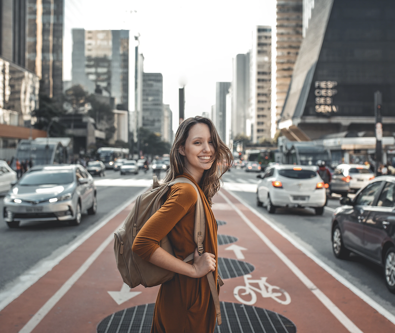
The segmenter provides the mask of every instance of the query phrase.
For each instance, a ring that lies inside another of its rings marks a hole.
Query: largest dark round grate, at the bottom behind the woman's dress
[[[155,304],[127,308],[104,318],[97,333],[150,333]],[[296,333],[288,318],[260,307],[221,302],[222,325],[214,333]]]

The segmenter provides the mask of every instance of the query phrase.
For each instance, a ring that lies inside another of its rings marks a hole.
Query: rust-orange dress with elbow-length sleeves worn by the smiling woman
[[[182,177],[197,185],[191,176],[183,174]],[[217,223],[207,199],[198,185],[197,188],[206,216],[204,252],[214,254],[217,259]],[[178,183],[171,186],[163,206],[145,223],[135,238],[133,252],[149,260],[159,247],[159,241],[168,235],[176,258],[184,260],[193,253],[196,248],[196,202],[197,193],[192,185]],[[217,269],[214,280],[217,281]],[[172,280],[160,286],[151,333],[212,333],[215,320],[215,306],[207,278],[203,276],[196,279],[175,274]]]

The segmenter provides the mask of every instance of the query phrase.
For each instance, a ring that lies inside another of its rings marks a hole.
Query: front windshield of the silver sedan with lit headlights
[[[26,173],[18,185],[63,185],[73,183],[72,170],[40,170]]]

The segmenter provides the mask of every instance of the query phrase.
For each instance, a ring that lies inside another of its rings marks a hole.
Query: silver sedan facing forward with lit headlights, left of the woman
[[[16,228],[24,221],[81,222],[82,212],[95,214],[96,186],[84,167],[35,166],[4,197],[4,221]]]

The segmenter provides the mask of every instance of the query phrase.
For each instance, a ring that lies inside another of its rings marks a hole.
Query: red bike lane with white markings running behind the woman
[[[218,227],[218,262],[225,276],[220,293],[222,302],[274,311],[292,321],[298,332],[395,331],[390,320],[298,250],[231,193],[222,189],[214,203],[214,215],[217,221],[223,221]],[[98,323],[113,313],[154,303],[158,287],[125,288],[114,259],[113,234],[132,205],[4,307],[0,311],[0,332],[95,333]],[[245,266],[248,271],[237,273],[236,266]],[[246,291],[248,295],[241,295]],[[256,301],[251,304],[253,294]],[[226,315],[222,315],[220,328],[228,325]]]

